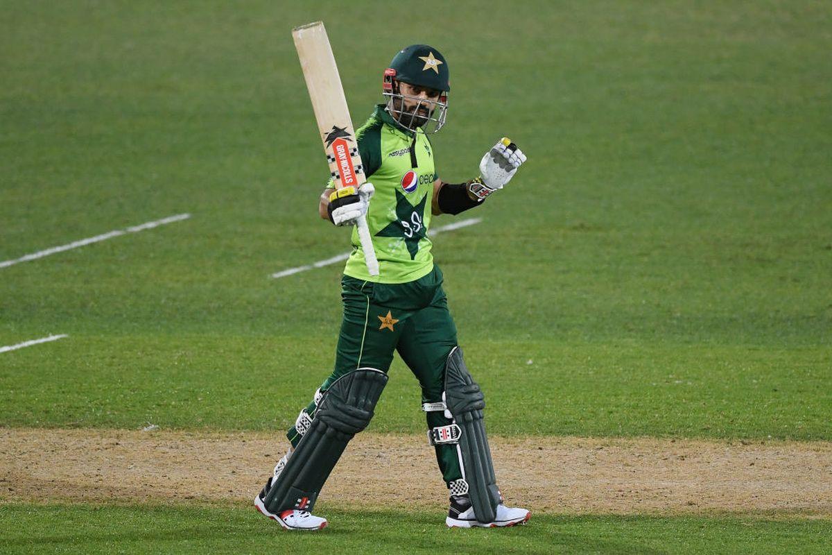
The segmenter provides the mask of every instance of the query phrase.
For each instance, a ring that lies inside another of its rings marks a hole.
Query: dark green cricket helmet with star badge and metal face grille
[[[438,98],[404,95],[399,83],[408,83],[439,91]],[[399,51],[384,70],[384,97],[387,111],[399,126],[416,131],[422,127],[425,132],[435,133],[445,125],[448,112],[448,62],[445,57],[427,44],[414,44]],[[406,107],[405,101],[415,102]]]

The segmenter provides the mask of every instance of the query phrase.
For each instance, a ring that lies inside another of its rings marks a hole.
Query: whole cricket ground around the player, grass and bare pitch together
[[[0,551],[824,553],[832,9],[339,6],[0,2]],[[479,219],[433,252],[525,527],[444,527],[398,359],[329,527],[251,506],[340,321],[290,37],[320,19],[356,124],[426,42],[439,176],[528,156],[433,222]]]

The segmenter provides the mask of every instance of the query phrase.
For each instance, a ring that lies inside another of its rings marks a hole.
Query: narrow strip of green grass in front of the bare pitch
[[[248,508],[8,505],[3,553],[825,553],[829,520],[540,516],[525,527],[448,530],[440,513],[328,511],[285,533]],[[386,533],[379,534],[380,531]]]

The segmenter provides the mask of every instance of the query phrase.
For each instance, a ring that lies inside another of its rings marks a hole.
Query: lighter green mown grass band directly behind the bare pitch
[[[6,354],[0,422],[285,429],[329,362],[329,349],[305,356],[318,345],[238,335],[72,336]],[[697,345],[529,340],[466,347],[496,434],[830,439],[830,378],[822,371],[830,358],[815,349],[703,353]],[[286,364],[297,375],[276,383]],[[417,433],[418,385],[400,362],[390,375],[370,429]]]

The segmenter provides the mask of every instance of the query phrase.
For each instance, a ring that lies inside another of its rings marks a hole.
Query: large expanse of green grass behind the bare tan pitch
[[[428,42],[453,82],[440,174],[502,135],[527,152],[434,249],[494,432],[830,439],[828,3],[2,12],[0,260],[192,218],[0,270],[0,344],[70,334],[0,355],[0,424],[294,420],[332,364],[339,266],[268,276],[348,242],[316,216],[290,40],[324,18],[355,121],[396,48]],[[415,431],[393,377],[373,428]]]

